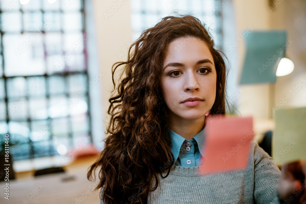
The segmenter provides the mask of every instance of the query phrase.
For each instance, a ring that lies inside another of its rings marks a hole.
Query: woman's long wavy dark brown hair
[[[167,177],[174,164],[167,137],[169,109],[159,85],[165,50],[170,42],[195,37],[206,43],[217,72],[216,98],[209,114],[225,114],[224,54],[214,48],[214,41],[204,26],[192,15],[166,16],[132,43],[127,61],[113,64],[114,90],[114,73],[119,66],[124,65],[124,68],[117,92],[109,99],[109,136],[104,139],[104,149],[87,174],[91,180],[99,169],[99,184],[95,190],[101,188],[105,204],[147,203],[149,191],[158,187],[158,175]]]

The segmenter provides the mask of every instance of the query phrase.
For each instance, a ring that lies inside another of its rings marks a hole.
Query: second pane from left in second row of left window
[[[23,14],[25,31],[41,31],[43,29],[42,14],[40,12],[31,12]]]

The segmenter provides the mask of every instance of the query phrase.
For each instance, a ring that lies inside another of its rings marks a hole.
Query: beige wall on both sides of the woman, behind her
[[[238,110],[241,114],[253,115],[256,119],[268,119],[271,118],[272,106],[275,106],[286,94],[292,94],[290,89],[296,86],[300,78],[304,78],[306,75],[306,29],[304,23],[306,22],[306,3],[304,0],[282,0],[276,9],[271,11],[268,0],[232,1],[235,18],[233,27],[236,27],[235,33],[237,36],[241,35],[248,27],[254,27],[256,30],[286,29],[288,38],[294,40],[293,45],[288,47],[287,54],[295,63],[295,70],[288,76],[277,78],[275,94],[273,93],[274,85],[238,85],[238,89],[241,88],[243,90],[238,100]],[[125,60],[126,55],[120,58],[118,53],[122,53],[122,49],[132,42],[131,11],[128,0],[122,0],[122,4],[107,19],[104,15],[114,6],[114,3],[118,2],[118,0],[93,0],[99,62],[101,71],[104,73],[101,87],[105,115],[107,115],[108,99],[112,90],[111,66],[114,62]],[[304,11],[304,14],[302,11]],[[237,39],[237,36],[235,36],[235,39]],[[238,69],[236,70],[238,70],[238,79],[244,58],[244,46],[244,42],[239,43],[237,46]],[[283,107],[305,105],[306,86],[302,86],[294,95],[291,95],[291,98]],[[106,120],[106,122],[108,121]]]

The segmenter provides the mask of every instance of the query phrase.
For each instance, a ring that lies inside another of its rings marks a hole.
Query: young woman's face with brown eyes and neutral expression
[[[161,88],[170,117],[199,119],[216,98],[217,73],[206,44],[197,38],[179,38],[165,50]],[[183,103],[188,98],[199,98]]]

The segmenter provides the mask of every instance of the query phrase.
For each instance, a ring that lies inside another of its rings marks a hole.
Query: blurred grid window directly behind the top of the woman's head
[[[215,48],[222,49],[222,4],[221,0],[131,0],[132,39],[136,40],[142,31],[154,26],[163,17],[192,14],[209,28]]]

